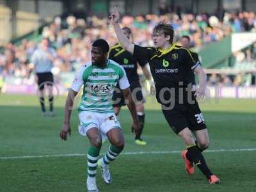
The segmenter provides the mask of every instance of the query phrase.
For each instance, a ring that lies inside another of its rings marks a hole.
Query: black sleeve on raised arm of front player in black
[[[152,47],[141,47],[139,45],[134,45],[133,56],[138,60],[149,61],[155,55],[154,48]]]

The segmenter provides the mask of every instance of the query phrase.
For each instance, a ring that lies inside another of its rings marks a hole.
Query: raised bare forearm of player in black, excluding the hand
[[[129,41],[129,39],[124,35],[122,29],[120,28],[118,23],[113,23],[113,28],[115,29],[116,36],[118,39],[118,42],[121,44],[121,46],[131,52],[133,54],[133,47],[134,45]]]

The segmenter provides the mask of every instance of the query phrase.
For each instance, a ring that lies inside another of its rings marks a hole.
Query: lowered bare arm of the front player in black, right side
[[[198,65],[194,71],[198,75],[199,81],[199,88],[195,93],[196,100],[204,99],[206,90],[206,75],[204,69],[201,67],[201,65]]]

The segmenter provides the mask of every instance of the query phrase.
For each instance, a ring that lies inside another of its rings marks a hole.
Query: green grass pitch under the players
[[[42,118],[35,96],[0,95],[0,156],[86,154],[88,141],[77,132],[77,111],[72,114],[72,136],[61,141],[65,97],[56,100],[56,117]],[[210,100],[200,104],[209,127],[209,149],[256,148],[255,100]],[[145,147],[133,143],[131,117],[120,114],[125,132],[124,152],[182,150],[184,145],[166,124],[153,97],[147,99]],[[106,151],[104,143],[102,152]],[[121,155],[111,164],[113,183],[100,191],[255,191],[256,151],[204,153],[221,185],[207,184],[196,168],[187,175],[179,154]],[[0,159],[0,191],[86,191],[86,157]]]

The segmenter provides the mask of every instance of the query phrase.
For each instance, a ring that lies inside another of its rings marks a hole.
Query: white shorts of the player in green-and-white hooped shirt
[[[78,131],[81,135],[86,136],[86,132],[97,127],[101,133],[102,141],[106,140],[107,132],[113,128],[122,129],[120,122],[115,113],[97,113],[92,111],[82,111],[79,113],[80,125]]]

